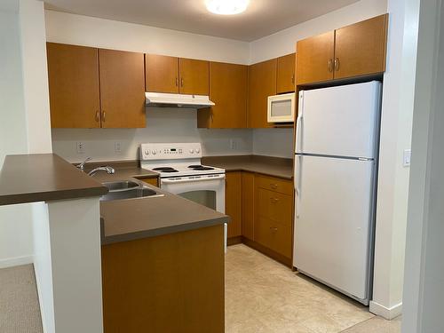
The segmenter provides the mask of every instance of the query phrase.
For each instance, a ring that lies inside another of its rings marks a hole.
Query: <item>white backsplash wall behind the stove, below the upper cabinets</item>
[[[199,130],[194,109],[147,107],[144,129],[54,129],[54,153],[69,162],[91,156],[96,161],[136,160],[138,147],[146,142],[202,142],[203,155],[242,155],[252,151],[249,130]],[[77,154],[76,142],[82,140],[84,154]],[[231,149],[230,140],[234,140]],[[122,152],[115,153],[115,142]]]

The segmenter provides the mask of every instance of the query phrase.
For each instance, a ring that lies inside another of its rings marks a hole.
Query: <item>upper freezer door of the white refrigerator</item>
[[[297,153],[374,158],[381,84],[301,91]]]

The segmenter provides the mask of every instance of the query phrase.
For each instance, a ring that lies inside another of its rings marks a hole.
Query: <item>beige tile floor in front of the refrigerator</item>
[[[399,326],[245,245],[227,250],[226,333],[397,333]]]

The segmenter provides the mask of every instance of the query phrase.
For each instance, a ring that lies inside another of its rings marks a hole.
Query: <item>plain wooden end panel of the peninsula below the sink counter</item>
[[[103,245],[104,332],[223,333],[223,237],[219,225]]]

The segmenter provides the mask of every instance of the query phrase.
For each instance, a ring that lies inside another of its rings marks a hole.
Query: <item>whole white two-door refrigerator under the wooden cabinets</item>
[[[293,266],[369,305],[381,83],[300,91]]]

